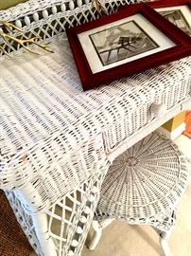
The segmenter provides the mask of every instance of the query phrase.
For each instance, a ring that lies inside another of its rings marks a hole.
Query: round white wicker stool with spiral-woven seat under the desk
[[[136,143],[114,159],[104,179],[89,248],[95,249],[102,229],[113,219],[121,219],[150,225],[164,254],[170,255],[166,239],[187,180],[185,158],[171,140],[153,133]]]

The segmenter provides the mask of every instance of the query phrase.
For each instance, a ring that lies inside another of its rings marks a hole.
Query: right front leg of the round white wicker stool
[[[152,227],[153,228],[153,227]],[[170,252],[170,249],[168,247],[168,244],[167,244],[167,240],[170,236],[170,230],[168,231],[162,231],[160,229],[156,229],[156,228],[153,228],[159,235],[159,242],[160,242],[160,245],[163,249],[163,254],[164,256],[171,256],[171,252]]]

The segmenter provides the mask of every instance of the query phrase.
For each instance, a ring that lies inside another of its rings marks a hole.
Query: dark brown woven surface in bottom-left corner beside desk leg
[[[32,248],[16,221],[4,192],[0,191],[0,255],[27,256]]]

